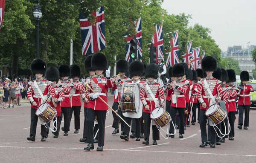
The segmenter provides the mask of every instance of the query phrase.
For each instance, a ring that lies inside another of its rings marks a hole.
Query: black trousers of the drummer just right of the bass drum
[[[149,135],[150,135],[150,123],[151,123],[151,118],[150,118],[150,113],[143,113],[143,119],[145,121],[145,126],[144,126],[144,140],[149,140]],[[157,129],[156,125],[152,125],[152,138],[153,140],[159,140],[159,130]]]

